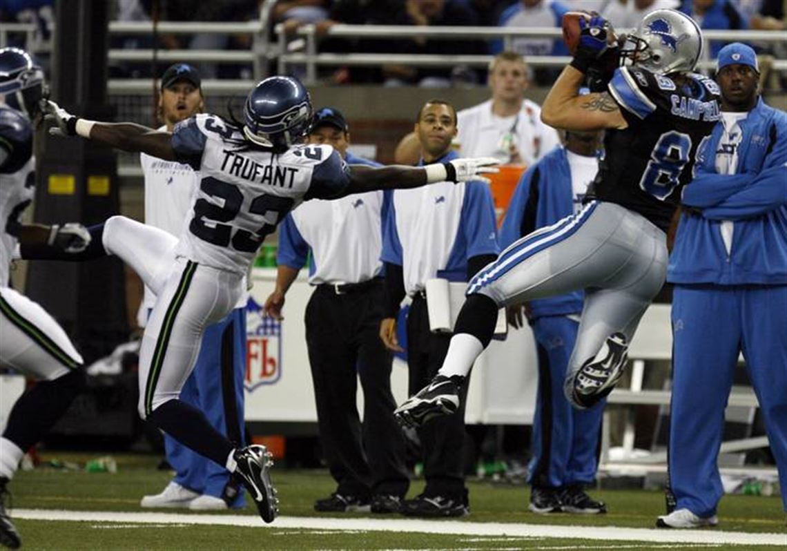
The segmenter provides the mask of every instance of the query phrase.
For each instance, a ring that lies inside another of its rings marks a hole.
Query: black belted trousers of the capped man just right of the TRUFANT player
[[[393,356],[379,337],[384,298],[382,279],[346,294],[319,286],[306,307],[320,442],[339,494],[404,496],[409,486],[405,438],[393,419]],[[363,423],[356,406],[359,378]]]

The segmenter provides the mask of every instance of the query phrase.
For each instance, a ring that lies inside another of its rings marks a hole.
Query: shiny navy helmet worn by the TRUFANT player
[[[259,146],[291,146],[309,130],[312,98],[292,76],[270,76],[257,83],[243,106],[243,134]]]

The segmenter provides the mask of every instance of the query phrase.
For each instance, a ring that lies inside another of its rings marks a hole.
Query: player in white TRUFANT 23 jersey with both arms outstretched
[[[113,216],[94,241],[131,265],[156,305],[142,337],[139,413],[156,427],[235,472],[266,522],[278,512],[264,446],[235,449],[198,409],[178,399],[194,367],[205,327],[227,315],[265,235],[311,198],[338,198],[378,189],[478,179],[497,170],[494,159],[455,159],[423,168],[350,168],[331,146],[296,145],[309,128],[312,104],[292,77],[262,80],[249,93],[242,123],[200,114],[172,133],[131,123],[73,116],[54,102],[46,113],[53,133],[79,135],[197,169],[190,222],[179,241],[157,228]],[[164,234],[164,235],[161,235]]]

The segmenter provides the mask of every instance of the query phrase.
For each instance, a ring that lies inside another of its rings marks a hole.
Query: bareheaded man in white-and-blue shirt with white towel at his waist
[[[421,144],[420,165],[458,157],[451,148],[456,136],[453,105],[430,100],[420,109],[414,130]],[[437,372],[450,339],[448,334],[430,331],[427,279],[466,282],[494,261],[499,252],[494,203],[482,179],[397,190],[390,194],[390,203],[382,245],[388,304],[380,337],[390,349],[401,350],[396,316],[408,294],[412,297],[407,319],[408,387],[415,394]],[[467,386],[461,391],[464,398]],[[427,483],[423,494],[405,501],[402,514],[438,517],[470,512],[464,484],[464,434],[464,399],[452,415],[419,429]]]

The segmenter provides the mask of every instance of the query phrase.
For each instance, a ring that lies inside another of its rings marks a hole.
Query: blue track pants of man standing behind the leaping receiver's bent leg
[[[543,316],[532,327],[538,343],[538,398],[528,483],[541,488],[592,483],[605,401],[578,410],[563,396],[579,323],[568,316]]]

